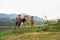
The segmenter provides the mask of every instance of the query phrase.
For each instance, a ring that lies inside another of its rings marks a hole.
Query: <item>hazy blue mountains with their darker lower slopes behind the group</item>
[[[27,13],[21,13],[20,15],[23,18],[25,15],[28,15],[28,14]],[[29,16],[31,16],[31,15],[29,15]],[[11,23],[11,24],[15,23],[14,20],[16,20],[16,17],[17,17],[17,14],[2,14],[2,13],[0,13],[0,24],[2,23],[1,25],[3,25],[3,24],[5,25],[5,23],[6,24],[8,24],[8,23]],[[44,21],[43,18],[40,18],[38,16],[34,16],[34,20],[39,25],[43,24],[43,21]],[[7,22],[7,21],[9,21],[9,22]]]

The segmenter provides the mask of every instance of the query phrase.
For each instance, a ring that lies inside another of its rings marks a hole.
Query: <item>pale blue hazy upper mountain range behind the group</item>
[[[21,17],[23,18],[25,15],[28,15],[27,13],[21,13]],[[30,16],[30,15],[29,15]],[[2,14],[0,13],[0,19],[15,19],[17,17],[17,14]],[[38,16],[34,16],[35,20],[42,21],[43,18],[40,18]]]

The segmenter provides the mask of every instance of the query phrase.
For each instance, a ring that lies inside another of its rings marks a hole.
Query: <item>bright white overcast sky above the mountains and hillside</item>
[[[60,18],[60,0],[0,0],[0,13],[27,13],[47,19]]]

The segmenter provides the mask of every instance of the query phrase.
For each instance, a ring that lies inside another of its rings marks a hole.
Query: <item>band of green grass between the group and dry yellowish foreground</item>
[[[6,36],[6,35],[14,35],[14,34],[22,34],[22,33],[27,33],[27,32],[42,32],[45,31],[43,29],[46,29],[49,32],[60,32],[60,26],[37,26],[37,27],[23,27],[20,28],[19,30],[16,30],[15,32],[13,30],[6,30],[0,33],[0,37]]]

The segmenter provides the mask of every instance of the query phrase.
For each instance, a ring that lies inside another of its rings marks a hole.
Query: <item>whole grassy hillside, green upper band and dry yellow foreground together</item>
[[[0,32],[0,40],[60,40],[60,25],[22,27]]]

